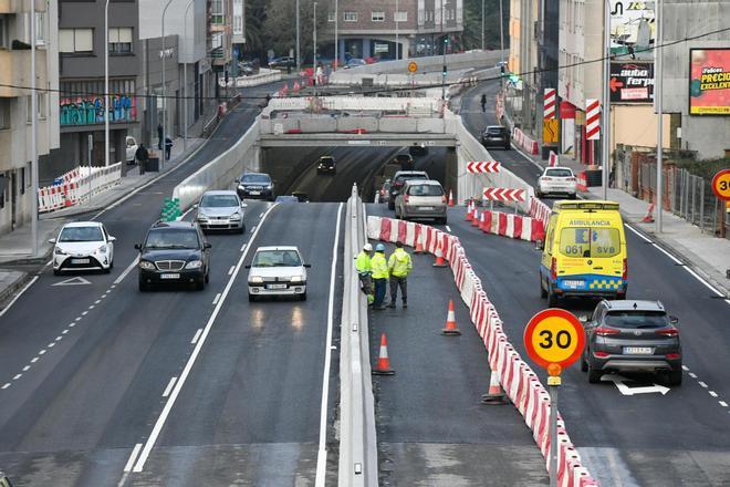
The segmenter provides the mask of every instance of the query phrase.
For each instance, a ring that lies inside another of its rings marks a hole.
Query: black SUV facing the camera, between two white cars
[[[210,272],[210,244],[197,224],[157,221],[139,250],[139,291],[161,283],[194,284],[202,290]]]

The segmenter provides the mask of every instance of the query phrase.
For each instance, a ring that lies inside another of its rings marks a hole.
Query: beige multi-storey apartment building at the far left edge
[[[35,22],[39,173],[59,147],[58,3],[0,1],[0,234],[30,222],[35,194],[31,154],[31,24]],[[44,91],[48,90],[48,91]]]

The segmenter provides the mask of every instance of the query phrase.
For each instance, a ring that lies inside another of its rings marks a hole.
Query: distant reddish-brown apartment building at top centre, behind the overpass
[[[334,33],[334,3],[331,8],[330,35]],[[340,0],[337,17],[341,62],[351,58],[396,59],[396,45],[399,59],[436,55],[445,46],[447,52],[458,49],[463,0]],[[322,45],[321,52],[334,58],[334,45]]]

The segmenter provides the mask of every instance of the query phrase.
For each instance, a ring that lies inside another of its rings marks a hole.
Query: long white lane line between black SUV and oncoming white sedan
[[[263,225],[263,221],[265,218],[269,216],[271,210],[273,210],[277,207],[277,204],[272,205],[269,207],[267,213],[263,215],[263,218],[261,218],[259,228]],[[255,236],[258,235],[258,230],[253,234],[251,237],[251,241],[255,239]],[[248,249],[247,249],[248,250]],[[210,318],[208,319],[208,322],[206,323],[205,329],[202,330],[202,333],[200,334],[200,340],[198,343],[195,345],[195,349],[192,350],[192,353],[190,354],[190,358],[188,359],[188,362],[185,364],[185,369],[182,370],[182,373],[180,374],[180,377],[178,379],[177,383],[175,384],[175,388],[173,388],[173,392],[170,393],[170,396],[168,397],[167,402],[165,403],[165,407],[163,407],[161,413],[159,414],[159,417],[157,418],[157,422],[155,422],[155,426],[153,427],[152,433],[149,434],[149,437],[147,438],[147,442],[145,443],[145,446],[142,449],[142,453],[139,454],[139,458],[137,459],[137,463],[134,466],[133,472],[142,472],[143,468],[145,467],[145,463],[147,462],[147,458],[149,457],[149,454],[152,453],[152,449],[155,446],[155,443],[157,442],[157,438],[159,437],[160,432],[163,431],[163,426],[165,426],[165,422],[167,421],[167,416],[169,416],[170,411],[173,410],[173,406],[175,405],[175,401],[177,400],[178,395],[180,394],[180,391],[182,390],[182,386],[185,385],[185,381],[188,379],[188,375],[190,374],[190,371],[192,370],[192,365],[195,364],[195,361],[198,359],[198,355],[200,354],[200,350],[202,350],[202,345],[206,343],[206,339],[208,338],[208,334],[210,333],[210,329],[212,328],[213,323],[216,322],[216,319],[218,318],[218,313],[220,313],[221,308],[223,307],[223,303],[226,303],[226,298],[228,297],[228,293],[230,292],[233,281],[236,280],[236,276],[238,272],[241,270],[241,267],[243,266],[243,260],[246,259],[248,251],[243,252],[236,265],[236,272],[233,272],[233,276],[230,277],[228,280],[228,283],[226,284],[226,288],[223,289],[222,297],[218,304],[216,304],[216,308],[213,309],[213,312],[210,314]]]

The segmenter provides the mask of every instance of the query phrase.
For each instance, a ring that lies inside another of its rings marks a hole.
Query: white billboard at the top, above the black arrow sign
[[[654,59],[654,1],[611,0],[611,53],[625,59]]]

